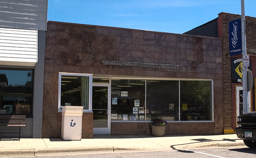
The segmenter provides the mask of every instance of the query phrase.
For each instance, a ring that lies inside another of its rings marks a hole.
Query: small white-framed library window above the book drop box
[[[59,74],[59,110],[63,106],[83,106],[90,110],[91,75]]]

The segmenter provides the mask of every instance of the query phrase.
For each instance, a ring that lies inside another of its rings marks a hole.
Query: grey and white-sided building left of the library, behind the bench
[[[0,1],[0,114],[26,115],[21,130],[26,138],[42,136],[47,4],[48,0]]]

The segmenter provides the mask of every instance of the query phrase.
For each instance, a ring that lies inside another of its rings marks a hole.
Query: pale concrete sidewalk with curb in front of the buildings
[[[0,156],[36,155],[54,152],[168,151],[244,145],[236,134],[154,137],[152,135],[93,135],[81,141],[61,138],[0,139]]]

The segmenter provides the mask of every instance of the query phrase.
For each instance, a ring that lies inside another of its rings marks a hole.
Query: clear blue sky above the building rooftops
[[[256,0],[244,0],[256,17]],[[241,0],[48,0],[50,21],[182,34],[218,17],[241,14]]]

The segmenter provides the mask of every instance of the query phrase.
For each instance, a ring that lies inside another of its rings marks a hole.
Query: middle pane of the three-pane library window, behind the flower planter
[[[179,113],[179,81],[147,80],[146,121],[151,116],[161,116],[165,120],[178,120]]]

